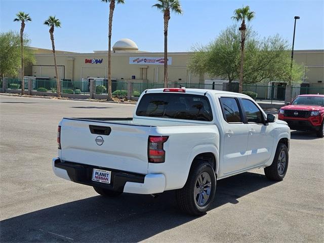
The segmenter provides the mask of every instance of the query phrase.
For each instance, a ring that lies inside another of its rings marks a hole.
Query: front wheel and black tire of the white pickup
[[[285,153],[285,164],[283,154]],[[289,153],[286,144],[278,143],[271,166],[264,168],[264,174],[270,181],[282,181],[287,173]]]

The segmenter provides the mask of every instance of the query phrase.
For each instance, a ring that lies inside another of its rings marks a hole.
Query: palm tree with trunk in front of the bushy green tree
[[[244,44],[245,44],[245,37],[246,37],[246,30],[247,26],[245,25],[245,21],[251,21],[254,18],[254,12],[250,11],[250,7],[242,7],[241,9],[235,9],[234,16],[232,19],[236,20],[237,22],[241,22],[241,26],[238,30],[241,31],[241,62],[240,62],[240,70],[239,70],[239,86],[238,92],[242,93],[243,90],[243,64],[244,64]]]

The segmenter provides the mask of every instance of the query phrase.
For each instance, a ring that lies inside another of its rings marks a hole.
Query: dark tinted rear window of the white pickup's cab
[[[173,93],[151,93],[143,95],[136,115],[212,121],[213,112],[206,96]]]

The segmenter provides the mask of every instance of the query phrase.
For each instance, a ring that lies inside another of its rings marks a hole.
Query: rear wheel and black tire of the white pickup
[[[199,183],[198,180],[201,181],[205,179],[205,184],[202,183],[197,187],[197,183]],[[198,194],[195,194],[196,192],[198,192]],[[194,216],[203,215],[213,203],[215,192],[216,176],[214,169],[205,161],[196,161],[190,169],[186,184],[183,188],[177,190],[176,196],[178,205],[180,209],[187,214]],[[200,206],[197,200],[200,200]]]

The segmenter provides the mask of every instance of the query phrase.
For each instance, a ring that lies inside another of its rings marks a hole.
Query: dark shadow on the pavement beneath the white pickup
[[[237,204],[240,197],[272,184],[251,172],[220,180],[211,210]],[[0,240],[138,242],[195,219],[179,212],[174,191],[157,198],[126,193],[116,198],[93,196],[3,220]]]

